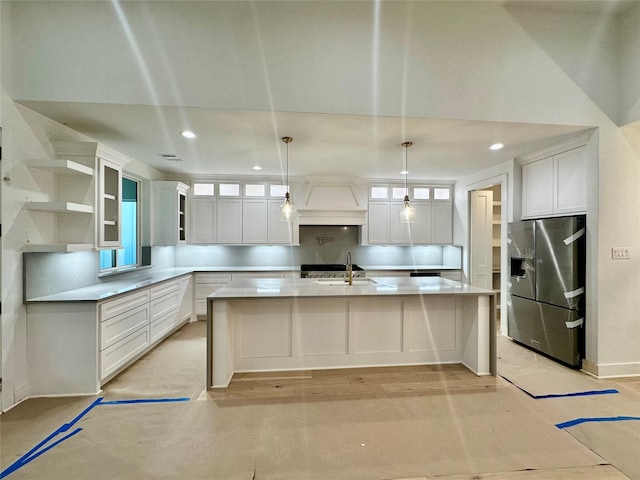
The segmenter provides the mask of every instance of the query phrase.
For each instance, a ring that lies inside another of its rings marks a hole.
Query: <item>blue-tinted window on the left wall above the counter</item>
[[[139,182],[122,177],[122,248],[100,251],[100,270],[138,265]]]

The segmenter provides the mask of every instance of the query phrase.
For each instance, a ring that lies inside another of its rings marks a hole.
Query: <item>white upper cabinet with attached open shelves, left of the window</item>
[[[119,246],[117,202],[124,160],[95,142],[52,145],[57,158],[25,161],[37,185],[25,204],[33,220],[26,231],[25,251]]]

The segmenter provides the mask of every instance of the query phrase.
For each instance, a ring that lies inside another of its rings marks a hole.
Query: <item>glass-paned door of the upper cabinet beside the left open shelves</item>
[[[122,243],[122,166],[98,159],[98,248],[118,248]]]

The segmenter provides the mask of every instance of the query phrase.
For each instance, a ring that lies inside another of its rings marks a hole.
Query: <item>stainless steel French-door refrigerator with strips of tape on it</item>
[[[508,334],[571,367],[584,352],[585,216],[513,222]]]

